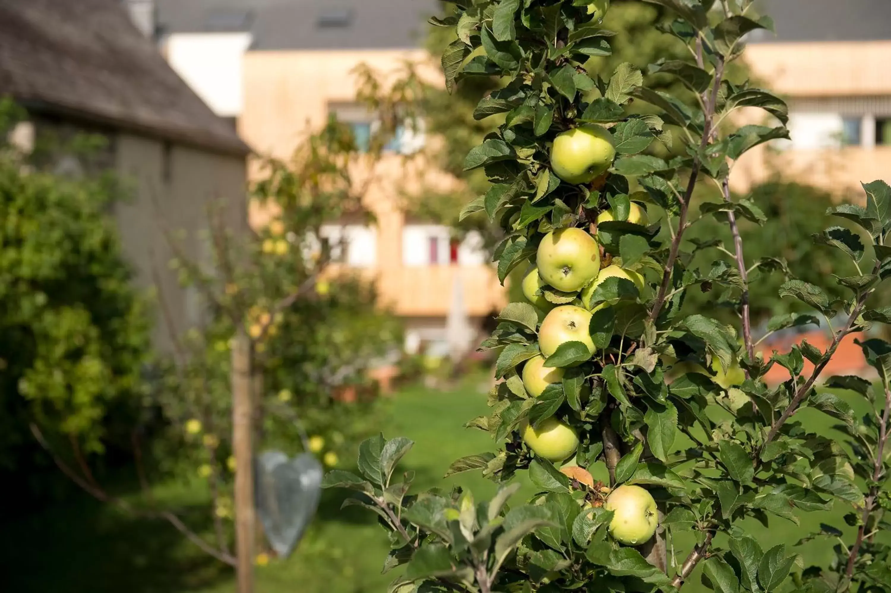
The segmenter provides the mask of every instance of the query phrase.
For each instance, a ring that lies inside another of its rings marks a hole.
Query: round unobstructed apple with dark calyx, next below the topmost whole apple
[[[601,270],[600,246],[581,228],[559,228],[538,244],[535,265],[538,276],[557,290],[580,291]]]

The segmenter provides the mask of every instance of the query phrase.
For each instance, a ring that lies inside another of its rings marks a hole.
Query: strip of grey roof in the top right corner
[[[876,41],[891,39],[891,0],[759,0],[776,25],[763,41]]]

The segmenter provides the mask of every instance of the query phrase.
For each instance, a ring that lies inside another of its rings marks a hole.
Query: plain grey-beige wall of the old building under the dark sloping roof
[[[165,176],[164,142],[119,134],[115,144],[118,174],[132,193],[115,207],[124,251],[135,265],[137,284],[157,297],[155,345],[170,351],[164,311],[181,334],[200,322],[201,303],[196,291],[179,286],[168,267],[174,253],[166,236],[184,231],[185,256],[208,261],[212,251],[200,235],[208,229],[208,207],[214,203],[225,204],[228,226],[245,230],[245,160],[170,144]]]

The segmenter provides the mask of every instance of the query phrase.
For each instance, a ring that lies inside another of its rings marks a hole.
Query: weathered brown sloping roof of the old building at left
[[[31,111],[249,152],[135,29],[119,0],[0,0],[0,95]]]

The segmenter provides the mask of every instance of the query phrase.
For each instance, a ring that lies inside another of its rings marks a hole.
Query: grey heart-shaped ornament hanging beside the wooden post
[[[323,468],[309,453],[291,459],[264,451],[254,464],[257,515],[266,539],[280,557],[289,556],[319,506]]]

